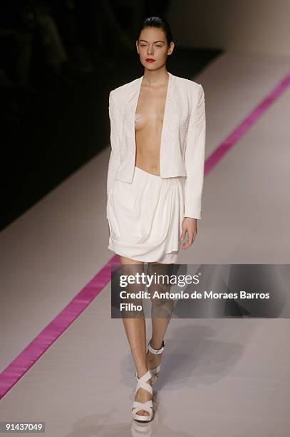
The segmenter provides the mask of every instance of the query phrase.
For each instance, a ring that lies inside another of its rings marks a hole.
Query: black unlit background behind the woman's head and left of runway
[[[109,91],[143,75],[138,28],[169,5],[1,1],[1,229],[108,146]],[[181,47],[172,33],[172,74],[190,79],[221,53]]]

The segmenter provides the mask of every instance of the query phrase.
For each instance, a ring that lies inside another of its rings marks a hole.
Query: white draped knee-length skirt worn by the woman
[[[132,183],[115,179],[108,199],[108,249],[145,263],[176,263],[184,198],[184,176],[162,179],[135,166]]]

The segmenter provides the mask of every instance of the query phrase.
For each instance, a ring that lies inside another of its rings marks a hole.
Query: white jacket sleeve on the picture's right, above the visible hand
[[[204,89],[200,85],[197,104],[192,109],[185,149],[185,217],[202,218],[202,189],[205,154]]]

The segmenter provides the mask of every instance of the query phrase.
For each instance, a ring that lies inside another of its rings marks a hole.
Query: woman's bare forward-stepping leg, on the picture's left
[[[135,261],[130,258],[125,258],[125,256],[120,256],[120,263],[122,265],[122,274],[135,275],[136,273],[142,273],[144,271],[144,263],[141,261]],[[128,284],[126,291],[134,293],[143,291],[143,288],[138,284]],[[136,299],[133,299],[133,303],[142,303],[142,300],[137,301]],[[145,375],[148,371],[146,361],[146,323],[144,313],[143,310],[139,312],[122,311],[122,317],[138,378],[141,378],[141,376]],[[147,383],[151,384],[152,381],[147,381]],[[152,396],[147,390],[139,388],[135,396],[135,401],[144,403],[151,398]],[[145,410],[140,410],[137,414],[140,414],[140,416],[149,416],[149,413]]]

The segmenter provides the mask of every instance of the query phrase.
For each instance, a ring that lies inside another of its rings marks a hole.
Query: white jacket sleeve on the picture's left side
[[[120,166],[120,152],[118,144],[118,107],[115,104],[113,97],[113,91],[110,91],[109,95],[109,117],[110,117],[110,159],[108,164],[108,176],[107,176],[107,206],[106,216],[108,218],[108,199],[113,183],[115,181],[115,175],[117,174]]]

